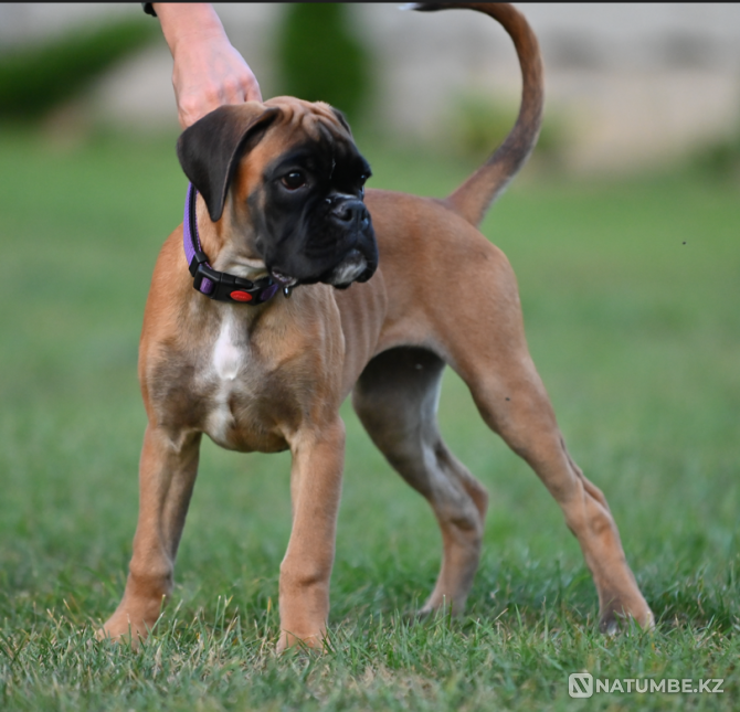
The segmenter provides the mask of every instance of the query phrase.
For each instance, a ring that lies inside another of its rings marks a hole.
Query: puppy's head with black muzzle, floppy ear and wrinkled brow
[[[327,104],[278,97],[222,106],[178,140],[186,176],[213,222],[224,208],[284,285],[348,287],[378,266],[362,202],[368,162],[343,116]]]

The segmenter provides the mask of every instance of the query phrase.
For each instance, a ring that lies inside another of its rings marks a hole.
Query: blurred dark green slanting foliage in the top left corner
[[[119,20],[0,54],[0,117],[42,118],[146,44],[157,31],[157,23],[144,17]]]

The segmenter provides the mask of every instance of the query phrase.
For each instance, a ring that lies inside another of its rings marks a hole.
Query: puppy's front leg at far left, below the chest
[[[172,439],[148,426],[139,467],[139,520],[124,597],[98,638],[147,637],[172,591],[172,573],[198,471],[200,433]]]

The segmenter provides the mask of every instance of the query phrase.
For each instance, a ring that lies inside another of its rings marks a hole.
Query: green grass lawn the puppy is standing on
[[[374,185],[424,194],[471,168],[366,153]],[[73,149],[6,134],[0,156],[0,709],[737,709],[737,188],[685,173],[524,176],[484,227],[517,272],[535,361],[573,456],[609,497],[655,634],[595,631],[595,593],[558,507],[448,374],[443,433],[491,495],[462,620],[406,616],[436,574],[436,524],[345,406],[330,650],[274,653],[287,456],[207,443],[175,597],[137,653],[92,631],[130,555],[138,331],[186,182],[172,141]],[[571,700],[568,674],[584,669],[725,678],[725,693]]]

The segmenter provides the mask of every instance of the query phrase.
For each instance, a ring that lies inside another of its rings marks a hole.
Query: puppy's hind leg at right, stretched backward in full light
[[[475,309],[455,315],[454,321],[441,314],[437,337],[488,426],[532,467],[560,504],[593,575],[601,629],[613,630],[620,617],[649,627],[653,615],[627,565],[606,499],[565,449],[529,355],[510,267],[500,253],[487,252],[491,266],[485,281],[478,281],[487,288],[461,288],[461,302],[475,304]],[[444,338],[445,333],[454,338]]]

